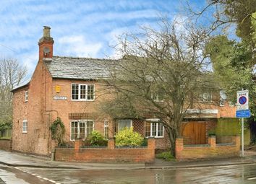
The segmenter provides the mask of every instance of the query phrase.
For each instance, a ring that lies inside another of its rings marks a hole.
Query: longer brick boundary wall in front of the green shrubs
[[[67,162],[153,162],[155,139],[148,139],[148,147],[116,148],[114,139],[106,148],[81,148],[82,141],[75,141],[74,148],[56,148],[55,160]]]

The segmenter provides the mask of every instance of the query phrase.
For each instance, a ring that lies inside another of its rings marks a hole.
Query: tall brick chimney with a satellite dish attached
[[[51,27],[43,26],[43,37],[40,38],[39,45],[39,61],[43,58],[52,58],[54,52],[54,39],[51,38]]]

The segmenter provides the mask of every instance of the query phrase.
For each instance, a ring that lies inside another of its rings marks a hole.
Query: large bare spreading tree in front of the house
[[[175,155],[188,109],[199,108],[202,89],[216,89],[203,55],[207,40],[205,30],[166,19],[158,30],[121,35],[116,49],[124,58],[110,69],[113,98],[103,110],[114,118],[159,118]]]

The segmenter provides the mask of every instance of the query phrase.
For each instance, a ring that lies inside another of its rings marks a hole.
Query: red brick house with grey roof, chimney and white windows
[[[54,40],[50,27],[44,27],[38,45],[39,60],[30,82],[12,89],[14,151],[50,154],[56,144],[51,140],[49,127],[57,117],[64,122],[66,141],[85,138],[93,130],[111,138],[115,131],[133,126],[145,137],[154,136],[156,149],[168,146],[167,134],[158,119],[114,121],[98,112],[101,102],[108,98],[108,95],[102,95],[100,81],[108,77],[106,65],[116,61],[53,56]],[[210,102],[212,94],[202,95]],[[226,103],[189,111],[184,121],[187,144],[205,144],[208,130],[216,125],[218,118],[235,115],[235,108]]]

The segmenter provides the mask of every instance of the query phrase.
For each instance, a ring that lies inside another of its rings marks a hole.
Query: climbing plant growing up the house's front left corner
[[[56,139],[58,142],[58,146],[64,144],[64,134],[65,134],[65,126],[61,121],[61,118],[57,117],[56,121],[54,121],[51,126],[51,138]]]

